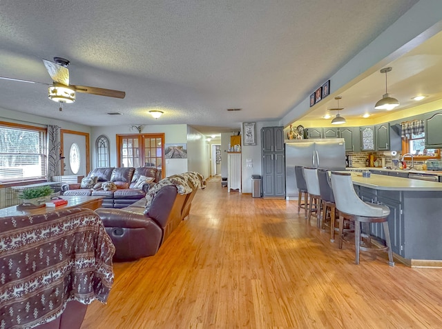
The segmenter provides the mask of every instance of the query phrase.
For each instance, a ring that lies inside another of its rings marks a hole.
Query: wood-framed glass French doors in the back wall
[[[117,161],[122,167],[164,168],[164,134],[117,134]]]

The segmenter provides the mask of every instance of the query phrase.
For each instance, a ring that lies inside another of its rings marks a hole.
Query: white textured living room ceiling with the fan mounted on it
[[[41,59],[64,57],[70,83],[126,98],[77,94],[59,112],[46,86],[0,80],[0,108],[208,133],[278,121],[416,2],[3,0],[0,76],[50,83]],[[152,119],[152,109],[163,117]]]

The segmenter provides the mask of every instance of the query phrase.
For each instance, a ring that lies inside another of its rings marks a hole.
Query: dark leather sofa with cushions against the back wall
[[[85,195],[104,197],[102,206],[105,208],[124,208],[137,200],[144,198],[146,192],[161,180],[162,172],[151,167],[122,167],[122,168],[95,168],[86,178],[96,177],[97,183],[111,181],[115,183],[116,190],[103,190],[102,188],[81,188],[81,184],[63,184],[63,195]],[[153,177],[151,183],[145,183],[141,188],[135,188],[141,176]]]

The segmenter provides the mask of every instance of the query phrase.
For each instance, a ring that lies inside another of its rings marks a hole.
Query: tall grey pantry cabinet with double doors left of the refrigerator
[[[285,197],[285,148],[282,127],[263,127],[262,197]]]

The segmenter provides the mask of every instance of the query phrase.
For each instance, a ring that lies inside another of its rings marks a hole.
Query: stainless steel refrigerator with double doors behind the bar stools
[[[298,199],[295,166],[345,170],[343,138],[297,139],[285,143],[285,197]]]

